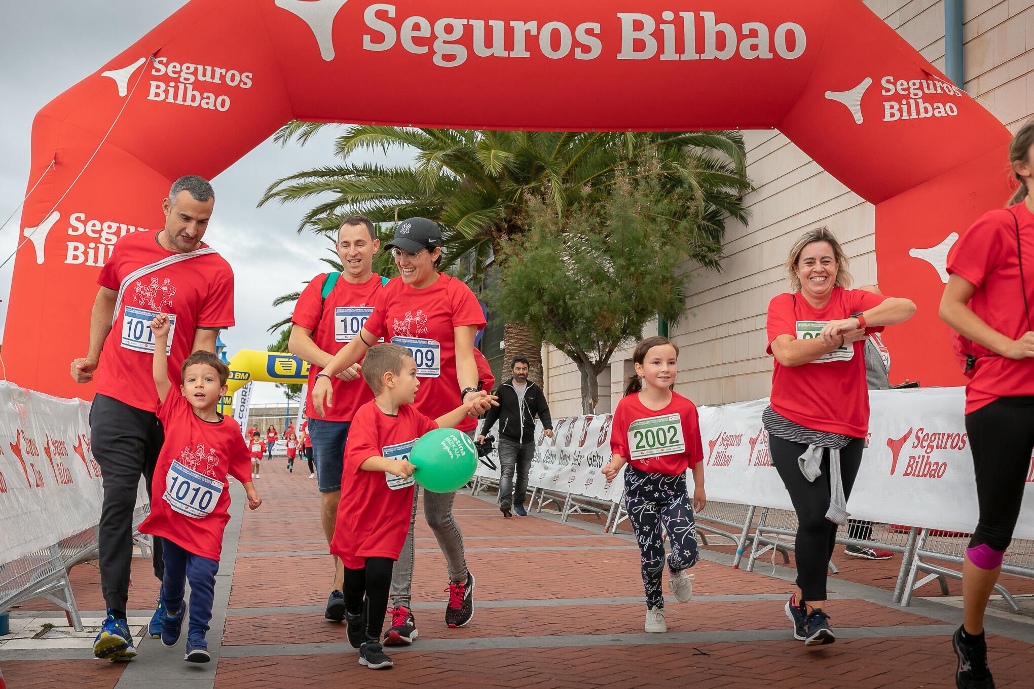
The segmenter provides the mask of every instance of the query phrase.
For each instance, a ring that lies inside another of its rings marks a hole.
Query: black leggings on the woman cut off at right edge
[[[969,546],[1005,551],[1034,451],[1034,396],[1003,397],[966,415],[980,519]]]

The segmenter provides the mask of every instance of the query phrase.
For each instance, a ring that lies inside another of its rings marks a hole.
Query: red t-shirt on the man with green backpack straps
[[[321,273],[309,281],[302,290],[295,306],[291,322],[312,332],[312,342],[329,354],[336,354],[341,347],[352,342],[359,331],[366,324],[370,312],[373,311],[373,299],[383,284],[381,276],[373,273],[370,279],[362,284],[352,284],[338,276],[334,289],[322,299],[326,273]],[[332,378],[330,381],[333,398],[327,415],[320,416],[312,404],[312,387],[316,374],[323,369],[309,366],[308,398],[306,399],[308,416],[328,421],[351,421],[356,410],[373,399],[370,386],[362,378],[344,381]]]

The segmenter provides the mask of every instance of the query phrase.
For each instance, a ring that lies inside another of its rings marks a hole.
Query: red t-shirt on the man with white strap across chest
[[[174,255],[176,252],[161,248],[155,232],[131,232],[115,243],[97,284],[118,291],[125,276]],[[157,409],[158,393],[151,376],[151,319],[158,313],[175,318],[169,379],[178,388],[180,367],[193,349],[196,328],[234,324],[234,273],[230,263],[219,254],[197,256],[148,273],[127,285],[94,375],[97,394],[145,411]]]

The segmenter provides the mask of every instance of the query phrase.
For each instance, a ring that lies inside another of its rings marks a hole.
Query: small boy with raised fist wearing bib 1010
[[[152,375],[161,400],[157,414],[165,441],[152,483],[152,494],[161,498],[151,502],[151,513],[140,531],[164,539],[161,643],[175,646],[180,638],[186,612],[184,586],[189,578],[190,625],[184,660],[205,663],[211,660],[205,632],[212,619],[222,532],[230,521],[226,474],[244,486],[251,509],[262,504],[262,498],[251,481],[244,480],[248,448],[241,427],[215,410],[226,393],[230,369],[212,352],[197,350],[183,362],[183,384],[175,389],[165,355],[169,316],[155,316],[151,330]]]

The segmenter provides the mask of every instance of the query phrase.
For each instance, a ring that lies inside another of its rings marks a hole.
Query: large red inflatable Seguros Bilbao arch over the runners
[[[888,332],[894,370],[926,384],[962,380],[937,320],[946,248],[1009,191],[1005,127],[861,0],[193,0],[36,117],[9,377],[83,396],[68,362],[112,243],[162,226],[172,180],[291,119],[778,128],[876,205],[880,284],[920,309]]]

